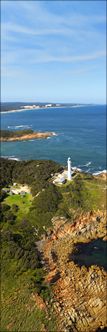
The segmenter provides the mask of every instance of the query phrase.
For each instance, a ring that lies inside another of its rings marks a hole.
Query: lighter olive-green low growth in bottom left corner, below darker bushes
[[[29,274],[18,279],[10,276],[3,279],[1,331],[42,332],[43,326],[48,327],[46,312],[40,310],[29,289]],[[54,331],[54,326],[53,326]]]

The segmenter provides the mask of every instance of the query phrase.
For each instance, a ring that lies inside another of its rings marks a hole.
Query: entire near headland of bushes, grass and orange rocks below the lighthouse
[[[1,330],[107,331],[105,179],[60,185],[54,161],[0,164]]]

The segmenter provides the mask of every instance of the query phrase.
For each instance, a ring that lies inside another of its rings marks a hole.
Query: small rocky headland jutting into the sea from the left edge
[[[51,136],[56,136],[54,132],[35,132],[31,129],[28,130],[1,130],[0,131],[0,141],[1,142],[13,142],[13,141],[23,141],[38,138],[48,138]]]

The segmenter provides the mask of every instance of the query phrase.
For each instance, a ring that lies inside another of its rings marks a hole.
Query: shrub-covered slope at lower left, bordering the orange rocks
[[[33,300],[38,294],[49,302],[52,295],[44,282],[36,235],[28,222],[22,221],[16,231],[9,224],[2,228],[1,260],[1,331],[8,331],[8,326],[11,331],[42,332],[43,326],[49,332],[57,331],[54,316]]]

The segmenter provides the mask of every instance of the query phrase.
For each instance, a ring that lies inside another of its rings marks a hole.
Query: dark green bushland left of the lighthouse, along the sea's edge
[[[9,186],[14,181],[31,186],[32,194],[47,186],[51,174],[59,172],[62,167],[50,160],[15,161],[1,158],[0,188]]]

